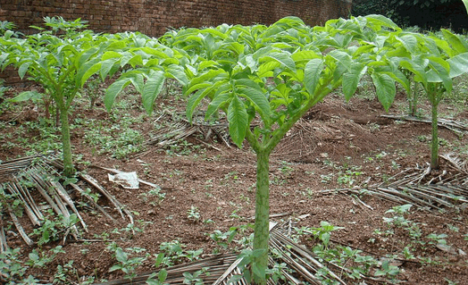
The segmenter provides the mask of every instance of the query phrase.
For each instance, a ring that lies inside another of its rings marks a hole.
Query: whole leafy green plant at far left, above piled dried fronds
[[[84,21],[64,21],[61,17],[45,18],[46,27],[34,27],[38,33],[26,38],[15,37],[13,32],[0,38],[2,54],[0,64],[4,69],[13,64],[23,79],[36,81],[45,90],[39,99],[50,98],[60,113],[63,143],[63,174],[72,176],[75,172],[71,157],[69,113],[73,99],[88,78],[96,73],[89,69],[96,62],[107,67],[105,74],[117,71],[113,64],[106,64],[100,57],[104,51],[132,46],[135,41],[118,36],[97,35],[90,30],[79,31],[86,27]],[[125,64],[129,63],[127,61]],[[104,73],[103,73],[104,74]],[[32,92],[20,94],[13,100],[27,100],[37,96]],[[50,98],[49,98],[50,96]]]

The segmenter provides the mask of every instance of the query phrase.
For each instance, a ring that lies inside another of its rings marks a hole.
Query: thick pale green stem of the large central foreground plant
[[[255,197],[255,232],[254,251],[261,252],[254,259],[263,276],[254,273],[255,284],[266,284],[264,272],[268,266],[268,239],[270,215],[269,155],[270,152],[257,152],[256,197]]]

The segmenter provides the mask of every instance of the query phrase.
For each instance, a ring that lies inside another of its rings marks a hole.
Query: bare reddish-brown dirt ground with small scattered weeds
[[[389,113],[405,111],[405,97],[398,96],[397,104]],[[138,116],[141,109],[134,107],[128,112]],[[183,102],[160,99],[157,105],[173,106],[183,111]],[[424,105],[424,103],[422,103]],[[454,120],[468,121],[468,106],[464,112],[455,112],[451,106],[441,106],[443,112],[455,113]],[[26,109],[23,109],[26,110]],[[343,189],[354,186],[378,184],[407,168],[427,167],[430,162],[430,124],[424,122],[396,121],[380,117],[385,113],[380,103],[371,98],[355,97],[346,103],[338,95],[330,95],[315,105],[305,117],[288,132],[271,157],[271,214],[273,221],[294,222],[298,229],[317,228],[322,221],[342,227],[331,233],[330,247],[344,245],[381,260],[394,256],[399,260],[397,281],[405,284],[468,284],[468,213],[465,207],[444,208],[443,211],[412,207],[407,220],[416,222],[422,239],[431,233],[446,234],[447,245],[455,248],[448,253],[430,244],[414,242],[403,227],[390,229],[382,217],[391,217],[386,212],[397,204],[378,197],[363,195],[359,203],[355,197],[345,193],[324,193],[326,189]],[[39,113],[39,116],[41,114]],[[5,112],[0,120],[5,123],[2,132],[13,132],[30,121],[30,112]],[[73,113],[73,118],[94,118],[92,123],[111,127],[109,113],[99,100],[94,111],[86,105]],[[154,113],[131,128],[141,130],[149,139],[155,130]],[[33,113],[33,119],[35,118]],[[96,128],[89,125],[89,128]],[[121,271],[109,272],[116,264],[115,257],[106,247],[110,242],[122,248],[141,247],[150,254],[138,266],[137,272],[154,270],[155,255],[163,242],[178,240],[184,250],[203,248],[203,256],[213,252],[227,252],[239,248],[233,242],[228,249],[219,247],[210,238],[214,231],[226,232],[231,227],[253,222],[255,214],[255,154],[246,144],[238,149],[228,147],[221,139],[211,137],[203,141],[196,135],[187,138],[179,146],[147,146],[136,155],[124,159],[112,158],[109,154],[99,155],[84,139],[88,128],[72,130],[74,155],[82,155],[79,169],[98,180],[121,204],[133,211],[135,227],[143,231],[126,231],[129,220],[107,208],[116,222],[89,208],[80,208],[88,232],[82,239],[67,239],[63,245],[65,254],[59,254],[44,268],[30,268],[28,273],[44,282],[54,281],[57,265],[73,260],[73,272],[67,282],[79,283],[94,278],[96,282],[112,281],[123,277]],[[116,130],[119,131],[119,130]],[[33,130],[31,137],[38,136]],[[465,158],[468,154],[466,134],[453,130],[439,129],[440,153],[455,152]],[[13,137],[14,138],[14,137]],[[6,161],[24,155],[24,147],[4,147],[2,141],[0,159]],[[88,163],[82,163],[88,162]],[[152,188],[140,184],[139,189],[122,189],[108,180],[106,172],[96,166],[115,168],[125,172],[137,172],[141,180],[161,187],[165,194],[162,200],[148,196]],[[444,160],[439,172],[453,173]],[[100,205],[109,206],[104,197]],[[4,217],[2,218],[4,220]],[[3,221],[7,223],[6,219]],[[117,229],[118,231],[115,231]],[[25,229],[31,231],[31,229]],[[389,233],[388,230],[393,230]],[[252,231],[239,231],[236,239],[248,236]],[[300,243],[313,248],[318,242],[312,235],[298,235]],[[7,233],[10,247],[21,247],[26,260],[36,246],[28,247],[14,229]],[[62,244],[56,241],[44,246],[50,249]],[[404,256],[405,247],[411,247],[412,256]],[[179,262],[184,262],[183,258]],[[361,281],[346,279],[349,284]],[[376,282],[379,283],[379,282]]]

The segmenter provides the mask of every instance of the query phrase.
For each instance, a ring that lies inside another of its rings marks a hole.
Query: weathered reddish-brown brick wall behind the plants
[[[294,15],[307,24],[347,17],[352,0],[0,0],[0,21],[13,21],[24,34],[36,32],[46,16],[88,21],[96,32],[140,31],[159,37],[168,27],[209,27],[221,23],[272,24]],[[0,73],[20,81],[13,69]]]

